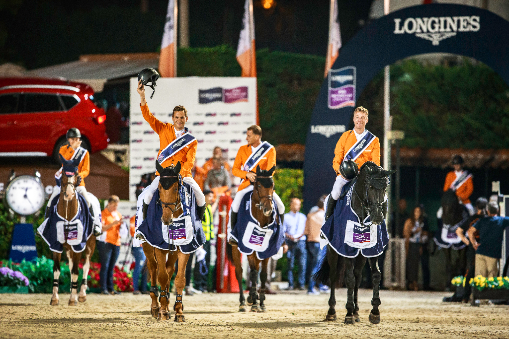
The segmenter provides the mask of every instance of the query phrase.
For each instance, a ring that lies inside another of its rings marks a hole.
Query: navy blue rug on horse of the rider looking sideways
[[[272,257],[279,251],[285,241],[285,233],[282,231],[282,225],[276,223],[279,213],[274,201],[272,223],[266,228],[260,227],[258,221],[251,214],[251,195],[252,192],[244,195],[240,202],[241,208],[237,214],[237,224],[232,230],[232,237],[237,241],[241,253],[250,255],[256,252],[258,259],[263,260]],[[243,206],[245,208],[242,208]]]

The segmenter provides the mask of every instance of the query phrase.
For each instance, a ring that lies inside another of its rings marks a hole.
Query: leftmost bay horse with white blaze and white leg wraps
[[[56,212],[63,217],[67,222],[71,221],[78,212],[78,198],[76,194],[76,187],[79,185],[81,177],[78,175],[77,165],[79,159],[76,161],[66,160],[60,155],[62,162],[62,182],[60,186],[60,197],[56,203]],[[88,210],[88,206],[84,204],[81,206],[83,209]],[[93,208],[92,206],[90,208]],[[85,225],[83,225],[85,226]],[[86,226],[85,226],[86,227]],[[93,224],[90,227],[94,227]],[[87,300],[87,279],[90,269],[90,258],[95,250],[96,237],[91,235],[86,243],[84,249],[85,263],[83,264],[83,278],[81,280],[81,287],[79,294],[78,289],[78,274],[79,274],[79,261],[83,252],[74,252],[71,245],[67,243],[69,232],[64,228],[64,248],[69,260],[69,271],[71,273],[71,296],[69,298],[69,306],[75,306],[79,302]],[[53,253],[53,291],[51,296],[50,305],[59,304],[59,278],[60,278],[60,260],[62,253],[52,251]]]

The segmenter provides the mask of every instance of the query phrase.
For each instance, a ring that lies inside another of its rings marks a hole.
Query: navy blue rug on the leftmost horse
[[[48,218],[37,229],[41,237],[49,245],[49,249],[53,252],[62,253],[64,243],[68,243],[76,253],[83,252],[87,245],[87,240],[92,235],[94,226],[87,200],[77,192],[76,196],[78,199],[78,212],[72,220],[65,220],[56,211],[56,205],[60,198],[59,194],[53,199]]]

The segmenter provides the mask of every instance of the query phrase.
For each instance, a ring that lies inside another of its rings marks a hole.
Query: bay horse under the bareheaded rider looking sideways
[[[251,215],[260,223],[260,227],[262,228],[267,228],[267,225],[271,224],[273,221],[273,215],[277,215],[277,213],[273,213],[274,203],[272,201],[272,193],[274,192],[274,179],[272,178],[272,173],[274,173],[274,169],[275,166],[266,171],[261,170],[260,166],[258,166],[256,181],[253,183],[254,188],[251,194]],[[235,225],[232,225],[232,228],[233,227],[235,227]],[[242,254],[238,250],[238,246],[231,244],[227,245],[227,253],[230,261],[235,265],[235,276],[239,283],[239,311],[245,312],[246,303],[242,288]],[[249,290],[247,301],[249,303],[252,302],[252,312],[265,312],[265,284],[267,283],[267,264],[269,262],[269,258],[260,260],[258,259],[256,252],[253,252],[247,256],[247,260],[251,271],[249,276],[249,279],[251,280],[251,289]],[[262,271],[260,272],[260,281],[262,286],[259,296],[257,293],[257,284],[260,262],[262,263]],[[260,305],[258,305],[258,300],[260,300]]]

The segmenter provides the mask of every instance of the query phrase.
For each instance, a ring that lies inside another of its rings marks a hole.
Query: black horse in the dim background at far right
[[[450,288],[451,279],[456,275],[464,275],[466,269],[466,245],[459,240],[456,243],[449,243],[443,240],[449,235],[456,238],[456,229],[461,222],[468,218],[468,211],[463,206],[453,190],[447,190],[442,195],[442,218],[439,220],[438,230],[434,236],[435,243],[445,251],[445,271],[447,272],[446,287]],[[445,235],[447,234],[447,235]],[[452,251],[458,251],[458,257],[454,264],[451,262]],[[456,301],[456,300],[455,300]],[[458,300],[461,301],[461,300]]]

